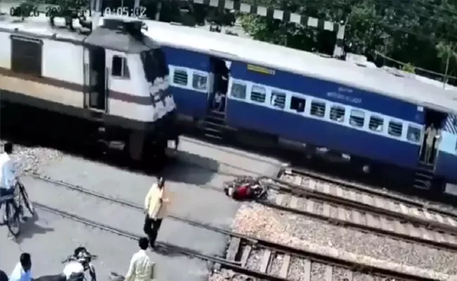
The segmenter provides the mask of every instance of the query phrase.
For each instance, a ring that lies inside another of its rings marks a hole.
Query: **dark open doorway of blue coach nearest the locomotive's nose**
[[[225,112],[230,65],[230,61],[215,57],[210,58],[213,83],[208,93],[208,102],[211,111]]]

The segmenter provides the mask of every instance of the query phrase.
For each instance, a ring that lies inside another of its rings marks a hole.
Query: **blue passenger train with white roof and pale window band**
[[[167,56],[181,122],[214,138],[250,135],[258,145],[307,153],[323,148],[428,198],[455,200],[456,91],[363,63],[144,22]],[[437,133],[427,130],[432,125]]]

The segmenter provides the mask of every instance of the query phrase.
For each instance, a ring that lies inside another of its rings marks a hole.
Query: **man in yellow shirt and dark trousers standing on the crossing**
[[[144,220],[143,231],[148,235],[150,247],[155,247],[155,240],[159,232],[162,219],[167,216],[169,196],[165,190],[165,178],[157,178],[157,183],[151,186],[144,200]]]

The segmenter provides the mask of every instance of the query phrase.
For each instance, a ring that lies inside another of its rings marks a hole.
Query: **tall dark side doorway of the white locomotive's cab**
[[[84,107],[97,112],[107,110],[107,79],[105,49],[84,48]]]

